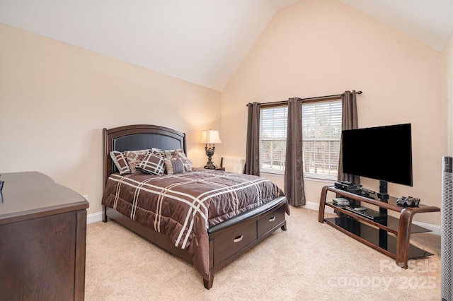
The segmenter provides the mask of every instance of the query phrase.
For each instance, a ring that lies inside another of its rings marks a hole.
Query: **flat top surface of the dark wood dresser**
[[[30,218],[88,208],[76,191],[54,182],[41,172],[2,173],[0,225]]]

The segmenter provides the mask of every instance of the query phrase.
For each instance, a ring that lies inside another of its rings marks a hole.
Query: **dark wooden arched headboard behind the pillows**
[[[139,151],[147,148],[166,150],[182,148],[187,154],[185,134],[164,126],[149,124],[103,129],[104,184],[113,172],[117,172],[116,166],[110,158],[110,151]]]

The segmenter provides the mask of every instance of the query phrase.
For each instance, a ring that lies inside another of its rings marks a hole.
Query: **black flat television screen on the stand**
[[[342,132],[343,172],[412,186],[411,124]]]

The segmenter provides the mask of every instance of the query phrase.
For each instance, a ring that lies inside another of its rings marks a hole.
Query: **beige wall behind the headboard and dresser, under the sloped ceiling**
[[[218,91],[0,24],[0,172],[43,172],[88,195],[88,213],[101,211],[104,127],[183,131],[202,166],[219,110]]]

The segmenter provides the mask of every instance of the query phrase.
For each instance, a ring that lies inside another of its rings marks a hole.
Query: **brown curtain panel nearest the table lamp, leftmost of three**
[[[246,167],[247,175],[260,175],[260,109],[258,102],[248,103]]]

